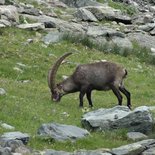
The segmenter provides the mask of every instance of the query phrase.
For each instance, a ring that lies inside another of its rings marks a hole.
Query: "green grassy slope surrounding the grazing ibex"
[[[42,33],[42,32],[40,32]],[[27,39],[34,42],[27,43]],[[155,66],[146,64],[133,55],[122,57],[118,54],[100,52],[80,43],[62,41],[45,46],[38,41],[32,31],[16,28],[0,29],[0,88],[7,94],[0,96],[0,121],[15,127],[15,131],[31,135],[29,146],[34,149],[56,149],[73,151],[77,149],[112,148],[130,143],[126,131],[91,133],[76,143],[54,142],[37,136],[37,129],[43,123],[57,122],[81,127],[83,115],[78,108],[78,93],[64,96],[60,103],[50,100],[47,86],[47,73],[55,59],[68,51],[79,51],[67,58],[58,71],[57,81],[63,75],[70,75],[77,64],[106,59],[118,62],[128,70],[125,85],[132,95],[133,109],[138,106],[155,104]],[[94,91],[92,95],[94,110],[116,106],[117,100],[111,91]],[[124,98],[123,105],[126,105]],[[88,107],[86,99],[84,106]],[[66,112],[68,115],[64,115]],[[8,130],[0,127],[0,134]]]

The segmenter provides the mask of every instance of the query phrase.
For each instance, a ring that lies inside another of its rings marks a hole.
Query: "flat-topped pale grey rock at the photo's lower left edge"
[[[1,141],[8,141],[8,140],[21,140],[23,144],[27,144],[29,141],[30,136],[26,133],[21,133],[19,131],[16,132],[6,132],[0,136]]]

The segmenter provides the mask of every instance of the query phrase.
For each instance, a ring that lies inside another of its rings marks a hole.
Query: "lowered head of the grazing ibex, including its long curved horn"
[[[55,84],[56,80],[56,73],[58,71],[59,66],[61,65],[61,62],[72,53],[65,53],[62,55],[53,65],[52,69],[49,71],[48,74],[48,86],[51,90],[51,99],[55,102],[59,102],[61,97],[65,94],[63,91],[62,83]]]

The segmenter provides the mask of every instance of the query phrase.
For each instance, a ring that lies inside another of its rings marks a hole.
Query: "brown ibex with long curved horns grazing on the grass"
[[[127,70],[113,62],[100,61],[79,65],[71,76],[56,84],[57,70],[62,61],[71,54],[70,52],[62,55],[49,71],[48,86],[51,90],[51,99],[53,101],[58,102],[66,94],[80,92],[79,106],[83,107],[83,97],[86,94],[89,106],[93,107],[91,100],[92,90],[112,90],[118,99],[119,105],[122,105],[122,92],[127,98],[127,106],[131,107],[130,92],[123,85]]]

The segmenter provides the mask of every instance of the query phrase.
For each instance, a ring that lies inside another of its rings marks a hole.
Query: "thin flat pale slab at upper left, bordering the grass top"
[[[30,29],[30,30],[43,30],[45,28],[43,23],[32,23],[32,24],[20,24],[17,25],[20,29]]]

